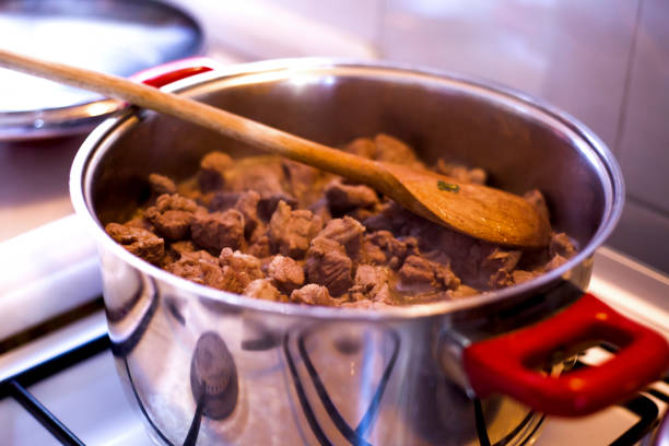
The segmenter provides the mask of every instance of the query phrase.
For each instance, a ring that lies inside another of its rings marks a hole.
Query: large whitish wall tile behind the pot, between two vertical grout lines
[[[388,0],[387,59],[510,85],[615,140],[637,1]]]

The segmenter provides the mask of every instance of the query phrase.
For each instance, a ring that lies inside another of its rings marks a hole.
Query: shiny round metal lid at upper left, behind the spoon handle
[[[0,2],[0,42],[10,50],[129,77],[195,56],[199,24],[155,0]],[[0,69],[0,141],[90,130],[122,104],[95,93]]]

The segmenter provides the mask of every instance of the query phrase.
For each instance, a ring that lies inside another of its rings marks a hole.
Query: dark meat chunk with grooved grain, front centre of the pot
[[[333,296],[341,296],[353,284],[353,262],[344,247],[329,238],[312,240],[304,269],[309,282],[327,286]]]

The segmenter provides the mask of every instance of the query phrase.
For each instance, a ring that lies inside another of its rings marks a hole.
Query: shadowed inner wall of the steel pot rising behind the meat
[[[501,90],[415,71],[318,63],[188,82],[184,94],[320,143],[386,132],[427,163],[444,157],[482,167],[492,186],[515,193],[538,188],[553,227],[582,249],[607,235],[620,212],[622,183],[606,146],[578,122]],[[151,111],[118,126],[101,142],[85,179],[103,224],[127,219],[148,197],[150,173],[183,179],[209,151],[258,153]]]

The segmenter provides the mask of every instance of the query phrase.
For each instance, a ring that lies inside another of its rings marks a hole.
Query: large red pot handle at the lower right
[[[591,341],[607,341],[620,350],[603,364],[560,376],[537,371],[558,352]],[[669,367],[669,344],[584,294],[548,320],[469,345],[462,361],[481,397],[501,392],[547,414],[579,416],[630,398],[659,378]]]

